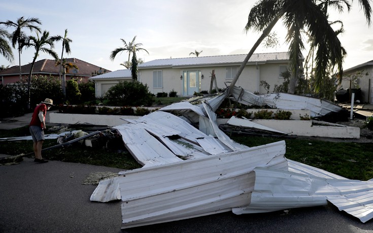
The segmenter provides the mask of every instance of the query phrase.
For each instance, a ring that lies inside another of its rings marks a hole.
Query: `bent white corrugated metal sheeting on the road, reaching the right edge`
[[[290,160],[288,165],[289,171],[254,169],[255,186],[251,203],[246,207],[234,208],[233,213],[260,213],[320,206],[329,201],[362,222],[373,218],[372,181],[349,180],[343,177],[338,179],[334,174]],[[301,173],[290,172],[298,171],[299,168],[302,168]]]

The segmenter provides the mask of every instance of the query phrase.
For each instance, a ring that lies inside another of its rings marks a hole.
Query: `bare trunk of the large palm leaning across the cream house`
[[[234,76],[232,82],[229,85],[227,96],[230,94],[231,90],[233,89],[235,83],[239,79],[242,71],[244,70],[247,62],[249,61],[250,57],[253,55],[254,51],[259,47],[260,43],[264,40],[266,36],[268,36],[269,32],[272,30],[272,28],[276,25],[276,23],[279,21],[281,16],[284,14],[283,11],[280,11],[279,14],[268,24],[268,26],[263,30],[262,35],[259,37],[259,39],[256,41],[254,46],[251,48],[250,52],[245,57],[244,61],[240,65],[239,70],[237,71],[236,75]]]

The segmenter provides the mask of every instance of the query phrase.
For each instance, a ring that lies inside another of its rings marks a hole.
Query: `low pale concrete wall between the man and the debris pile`
[[[127,123],[122,119],[138,119],[139,116],[117,116],[97,114],[50,113],[49,122],[55,124],[93,124],[109,127]]]

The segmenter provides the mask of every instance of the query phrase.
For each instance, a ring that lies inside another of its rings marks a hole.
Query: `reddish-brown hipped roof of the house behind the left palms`
[[[78,72],[76,69],[71,69],[69,73],[66,73],[66,75],[75,75],[75,76],[92,76],[92,73],[97,73],[101,68],[97,65],[79,60],[77,58],[66,58],[67,62],[72,62],[73,64],[77,65],[79,70]],[[31,69],[31,63],[25,64],[21,66],[22,74],[29,74]],[[103,72],[110,72],[106,69],[101,69]],[[3,71],[0,71],[0,75],[2,76],[10,76],[10,75],[18,75],[19,74],[19,66],[15,65],[11,68],[5,69]],[[36,61],[32,74],[59,74],[59,65],[56,66],[55,60],[50,59],[43,59]]]

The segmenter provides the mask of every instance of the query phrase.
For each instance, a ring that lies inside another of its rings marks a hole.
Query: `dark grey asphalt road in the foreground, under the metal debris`
[[[30,158],[0,166],[0,232],[120,232],[120,202],[89,201],[96,186],[82,182],[93,172],[119,170]],[[328,205],[287,213],[227,212],[125,232],[373,232],[373,221],[361,223]]]

